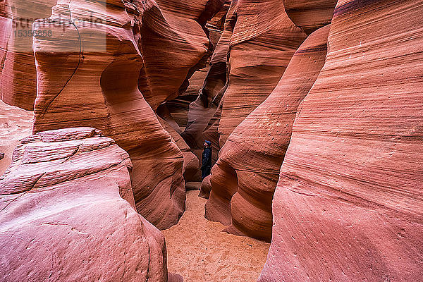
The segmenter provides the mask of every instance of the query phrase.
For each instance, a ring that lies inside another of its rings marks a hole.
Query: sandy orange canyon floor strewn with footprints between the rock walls
[[[179,223],[162,231],[166,238],[169,273],[185,282],[257,281],[270,244],[221,232],[225,226],[204,218],[207,200],[188,191]]]

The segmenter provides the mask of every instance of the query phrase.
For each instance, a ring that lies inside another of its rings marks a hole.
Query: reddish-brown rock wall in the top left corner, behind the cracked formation
[[[37,72],[32,23],[50,16],[54,5],[56,0],[0,1],[0,99],[7,104],[34,108]]]

